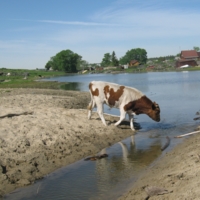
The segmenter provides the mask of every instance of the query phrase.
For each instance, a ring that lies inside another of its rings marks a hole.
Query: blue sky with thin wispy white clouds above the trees
[[[44,68],[70,49],[89,63],[134,48],[148,57],[200,47],[199,0],[0,0],[0,68]]]

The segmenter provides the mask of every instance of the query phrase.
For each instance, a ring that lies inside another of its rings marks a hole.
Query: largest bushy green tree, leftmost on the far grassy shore
[[[53,70],[77,72],[77,66],[81,60],[81,56],[71,50],[63,50],[51,57],[50,61],[45,65],[46,69],[49,67]]]

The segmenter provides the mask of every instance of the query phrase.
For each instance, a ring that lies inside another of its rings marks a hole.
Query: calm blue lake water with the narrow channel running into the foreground
[[[115,145],[103,149],[109,156],[95,162],[80,160],[56,170],[34,185],[20,188],[4,199],[117,199],[142,171],[163,155],[160,150],[171,138],[169,151],[199,125],[193,118],[200,110],[200,72],[152,72],[139,74],[89,74],[50,78],[65,82],[65,89],[88,91],[92,80],[136,87],[161,108],[161,121],[146,115],[136,117],[141,129]],[[105,113],[119,115],[105,106]],[[87,116],[86,116],[87,117]]]

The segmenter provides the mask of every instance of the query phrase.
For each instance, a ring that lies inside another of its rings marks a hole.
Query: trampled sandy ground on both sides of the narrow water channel
[[[129,125],[115,127],[111,116],[107,127],[96,113],[88,120],[89,101],[88,92],[0,89],[1,197],[133,134]],[[187,137],[119,199],[199,199],[199,146],[200,135]],[[148,197],[151,186],[165,192]]]

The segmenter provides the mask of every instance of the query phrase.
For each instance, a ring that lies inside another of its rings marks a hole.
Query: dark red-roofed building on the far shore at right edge
[[[197,60],[199,55],[195,50],[186,50],[181,51],[180,60],[176,61],[176,68],[179,68],[183,65],[197,66]]]

